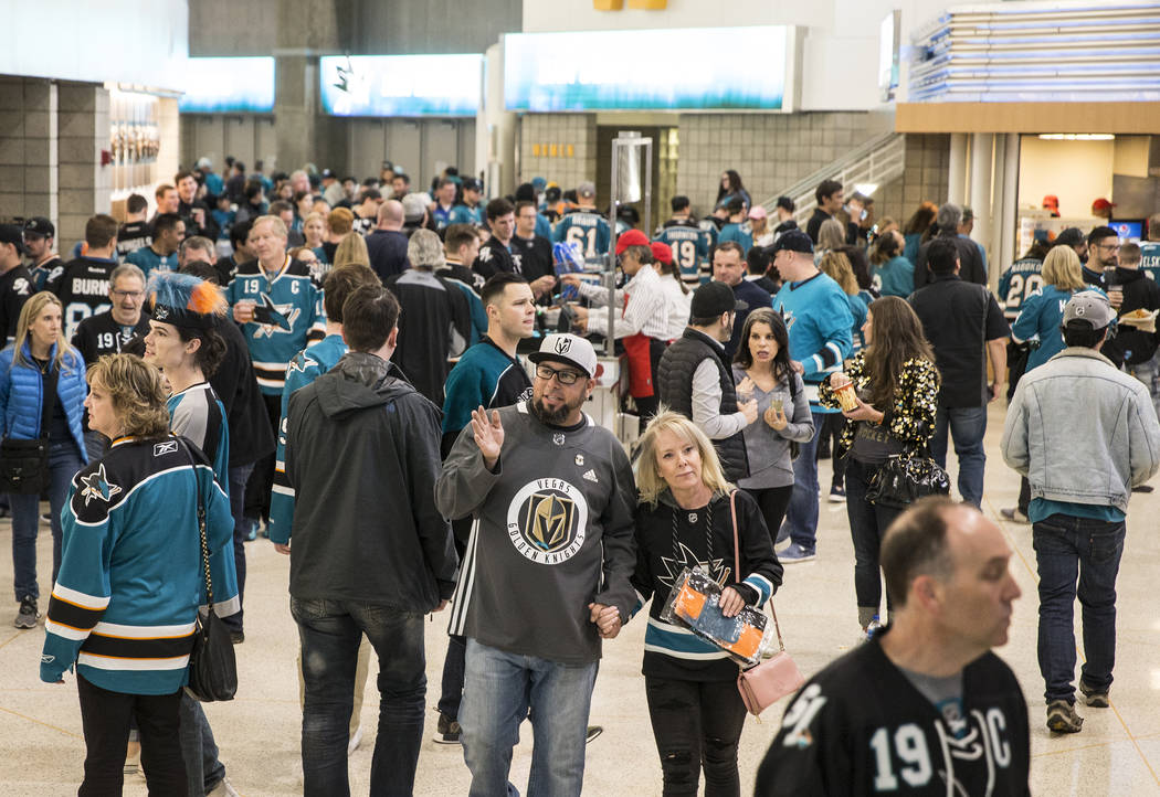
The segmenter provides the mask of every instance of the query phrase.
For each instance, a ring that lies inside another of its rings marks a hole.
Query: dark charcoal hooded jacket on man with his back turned
[[[290,397],[290,594],[429,612],[455,587],[435,509],[440,412],[390,361],[348,352]]]

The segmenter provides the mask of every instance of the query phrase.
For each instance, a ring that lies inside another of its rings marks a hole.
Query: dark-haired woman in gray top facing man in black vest
[[[802,376],[790,363],[789,332],[778,313],[761,308],[749,313],[733,356],[738,400],[757,401],[760,421],[745,427],[749,475],[738,487],[761,507],[771,541],[777,540],[793,492],[797,446],[813,439],[813,416]]]

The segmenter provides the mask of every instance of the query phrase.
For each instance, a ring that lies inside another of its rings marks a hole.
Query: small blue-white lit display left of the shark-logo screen
[[[190,58],[182,114],[269,114],[274,110],[274,59]]]

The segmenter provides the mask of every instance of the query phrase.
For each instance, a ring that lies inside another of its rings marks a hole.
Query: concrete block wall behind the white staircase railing
[[[682,114],[677,193],[709,213],[726,169],[741,175],[754,203],[777,196],[890,130],[890,119],[861,111],[802,114]]]

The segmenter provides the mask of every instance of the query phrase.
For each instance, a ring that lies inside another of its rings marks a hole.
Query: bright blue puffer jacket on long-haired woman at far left
[[[41,393],[44,382],[39,368],[14,363],[15,344],[0,351],[0,437],[17,440],[32,440],[41,436],[41,408],[44,405]],[[24,361],[31,363],[32,354],[28,342],[23,348]],[[57,346],[52,345],[49,359],[56,360]],[[72,433],[81,460],[88,463],[85,448],[85,432],[80,421],[85,415],[85,396],[88,385],[85,382],[85,360],[80,352],[68,346],[64,357],[64,368],[57,379],[57,395],[68,419],[68,431]]]

